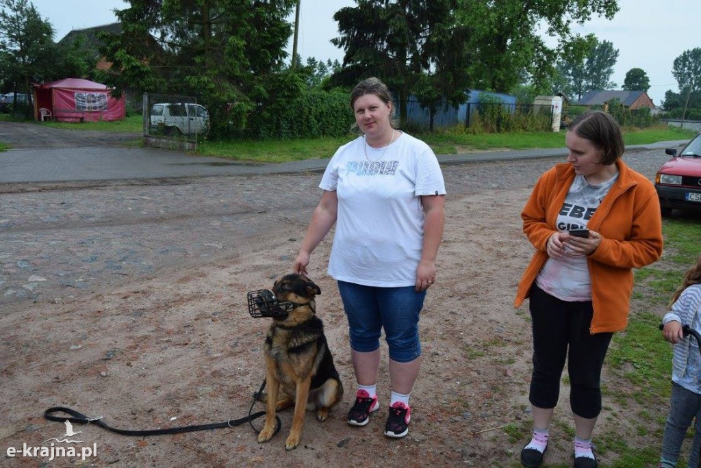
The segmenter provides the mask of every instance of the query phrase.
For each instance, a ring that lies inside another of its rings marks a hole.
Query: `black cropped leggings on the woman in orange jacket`
[[[601,413],[601,366],[613,333],[592,335],[592,302],[567,302],[533,284],[533,376],[529,400],[537,408],[554,408],[567,359],[570,407],[582,418]],[[568,357],[569,347],[569,357]]]

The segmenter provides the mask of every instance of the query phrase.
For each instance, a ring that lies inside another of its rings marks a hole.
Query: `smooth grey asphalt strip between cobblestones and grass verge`
[[[327,159],[315,159],[250,164],[163,149],[119,146],[138,138],[136,134],[106,135],[32,123],[3,122],[0,123],[0,141],[13,145],[15,149],[0,153],[0,184],[287,174],[322,171],[328,163]],[[661,149],[682,142],[659,142],[630,146],[629,149]],[[442,164],[450,164],[565,155],[566,149],[559,148],[439,155],[438,159]]]

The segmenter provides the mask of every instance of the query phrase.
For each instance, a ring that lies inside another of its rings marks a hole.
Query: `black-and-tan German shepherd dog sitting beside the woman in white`
[[[318,410],[316,418],[326,420],[329,409],[343,397],[343,385],[324,326],[315,315],[314,298],[321,289],[307,277],[293,273],[275,281],[273,293],[292,309],[273,318],[265,339],[268,392],[263,398],[266,418],[258,441],[268,441],[275,434],[275,411],[294,405],[292,428],[285,441],[285,449],[292,450],[299,445],[305,410]]]

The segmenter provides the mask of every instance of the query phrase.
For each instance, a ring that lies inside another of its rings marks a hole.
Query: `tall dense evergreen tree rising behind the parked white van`
[[[128,0],[122,34],[102,34],[109,84],[196,95],[224,131],[304,85],[280,78],[296,0]]]

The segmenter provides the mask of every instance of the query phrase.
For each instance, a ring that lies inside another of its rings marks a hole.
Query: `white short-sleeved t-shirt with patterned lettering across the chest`
[[[420,197],[446,193],[430,147],[406,133],[380,149],[359,137],[336,151],[319,186],[339,200],[329,275],[365,286],[413,286],[423,244]]]

